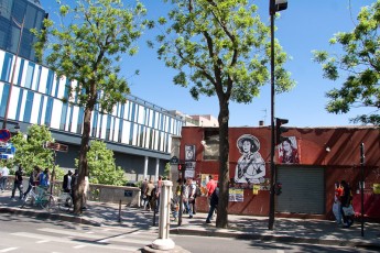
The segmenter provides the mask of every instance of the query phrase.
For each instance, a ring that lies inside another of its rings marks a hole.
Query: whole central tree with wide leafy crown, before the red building
[[[164,0],[169,2],[169,0]],[[257,6],[248,0],[171,0],[170,22],[158,36],[159,58],[178,70],[174,84],[191,96],[217,96],[219,100],[219,183],[216,226],[228,227],[229,101],[249,103],[270,79],[270,28],[261,22]],[[151,42],[153,46],[153,43]],[[275,41],[276,91],[294,82],[283,68],[287,56]]]

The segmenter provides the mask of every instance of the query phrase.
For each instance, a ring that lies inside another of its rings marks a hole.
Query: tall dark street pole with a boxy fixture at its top
[[[274,15],[275,12],[285,10],[287,0],[269,0],[269,14],[271,16],[271,191],[269,200],[269,222],[268,229],[273,230],[274,224],[274,184],[275,184],[275,165],[274,165]]]

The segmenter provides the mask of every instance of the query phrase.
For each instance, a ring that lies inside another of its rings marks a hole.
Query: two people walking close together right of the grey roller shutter
[[[352,193],[346,180],[335,184],[333,213],[338,224],[349,228],[354,223]]]

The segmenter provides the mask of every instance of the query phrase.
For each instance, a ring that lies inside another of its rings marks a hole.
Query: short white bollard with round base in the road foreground
[[[160,195],[160,218],[159,218],[159,239],[152,243],[155,250],[172,250],[175,246],[173,240],[169,238],[170,231],[170,210],[173,183],[170,180],[162,182],[162,190]]]

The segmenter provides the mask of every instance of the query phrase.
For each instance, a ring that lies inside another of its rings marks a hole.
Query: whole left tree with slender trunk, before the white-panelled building
[[[61,3],[61,1],[58,1]],[[39,36],[35,48],[40,58],[45,47],[48,55],[46,65],[58,76],[76,80],[75,87],[64,101],[84,108],[83,134],[78,162],[78,184],[74,189],[74,212],[82,210],[85,176],[88,176],[87,152],[94,109],[111,112],[118,102],[126,102],[130,92],[124,78],[119,77],[121,54],[137,53],[133,44],[148,24],[140,18],[145,14],[144,7],[137,2],[124,8],[121,0],[79,0],[72,8],[61,4],[62,24],[54,26],[45,20],[45,30],[34,33]],[[68,25],[64,25],[68,21]]]

